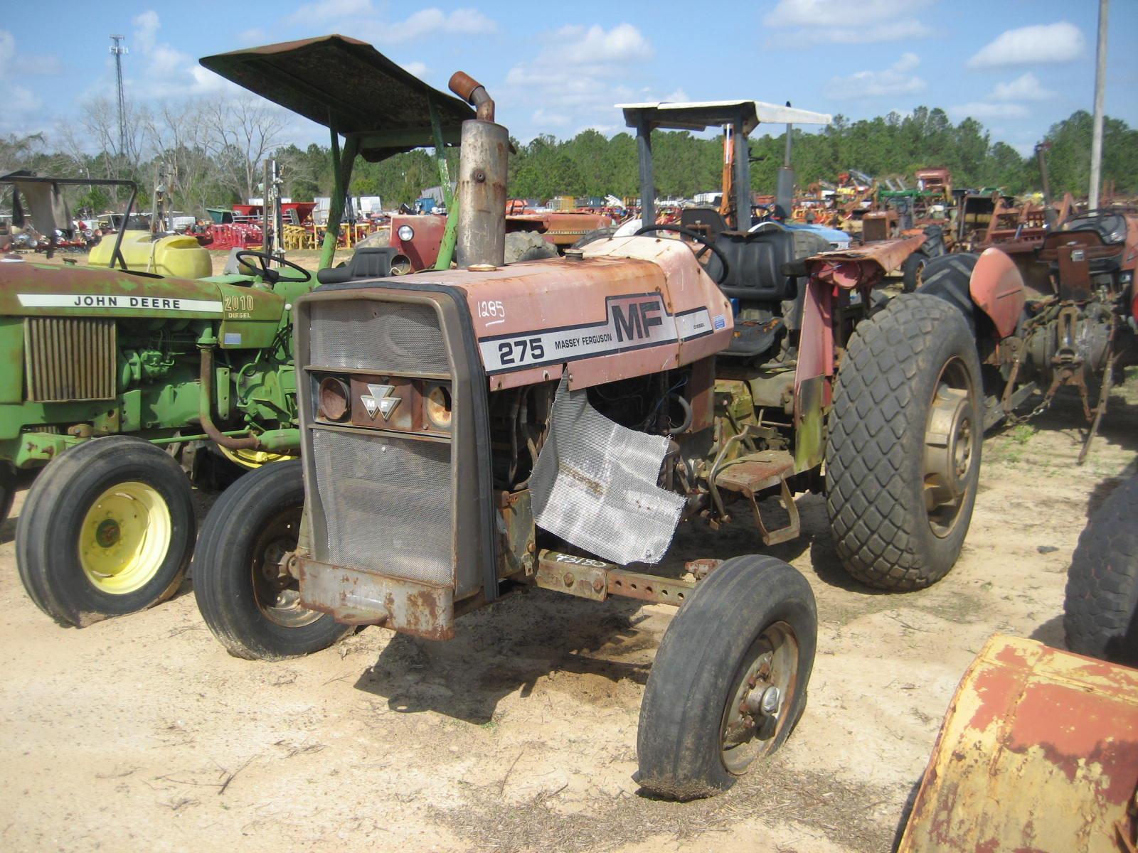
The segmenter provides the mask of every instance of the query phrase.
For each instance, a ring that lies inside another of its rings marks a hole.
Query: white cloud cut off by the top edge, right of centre
[[[933,0],[860,0],[857,19],[850,20],[848,0],[780,0],[762,19],[774,30],[795,28],[786,38],[809,38],[813,43],[869,44],[921,39],[932,31],[914,14]]]

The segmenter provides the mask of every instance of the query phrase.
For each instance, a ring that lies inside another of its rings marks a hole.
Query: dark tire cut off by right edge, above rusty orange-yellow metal
[[[1063,627],[1067,648],[1138,665],[1138,477],[1090,516],[1067,571]]]

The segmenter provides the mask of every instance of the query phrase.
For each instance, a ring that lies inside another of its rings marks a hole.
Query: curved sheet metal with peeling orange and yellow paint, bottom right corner
[[[993,636],[957,688],[899,853],[1116,853],[1135,838],[1138,670]]]

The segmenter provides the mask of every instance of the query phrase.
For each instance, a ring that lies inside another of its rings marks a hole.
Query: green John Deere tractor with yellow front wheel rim
[[[363,47],[354,61],[387,63]],[[438,113],[428,109],[424,90],[401,72],[386,92],[369,93],[354,121],[371,140],[387,136],[365,143],[364,156],[429,144],[473,114],[446,96]],[[56,196],[66,183],[26,180]],[[333,209],[324,266],[339,218]],[[233,255],[239,274],[158,275],[146,268],[165,270],[179,248],[170,241],[183,238],[149,242],[149,233],[131,243],[143,268],[126,268],[122,245],[135,232],[125,233],[105,240],[112,268],[0,264],[0,351],[10,367],[0,380],[3,511],[16,471],[46,465],[19,514],[16,557],[31,598],[63,626],[133,612],[178,588],[197,529],[182,469],[203,472],[215,456],[203,449],[246,467],[299,449],[291,316],[318,276],[248,250]],[[319,279],[388,275],[405,260],[361,250]]]

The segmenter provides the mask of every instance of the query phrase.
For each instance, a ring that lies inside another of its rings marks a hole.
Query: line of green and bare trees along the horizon
[[[140,185],[140,205],[149,204],[154,175],[160,164],[176,175],[175,208],[201,216],[206,207],[228,207],[261,194],[261,160],[275,152],[284,177],[284,194],[297,201],[330,194],[329,149],[283,144],[283,115],[264,101],[182,101],[131,109],[126,150],[117,151],[117,114],[96,99],[80,121],[50,136],[0,138],[0,167],[33,168],[41,174],[83,177],[130,177]],[[1090,175],[1091,116],[1079,110],[1054,124],[1046,135],[1052,190],[1058,196],[1087,193]],[[91,154],[90,148],[99,149]],[[528,143],[513,141],[509,191],[517,198],[546,200],[553,196],[637,196],[636,141],[629,133],[605,136],[587,130],[572,139],[539,135]],[[785,133],[750,140],[751,185],[773,193],[782,165]],[[792,159],[798,183],[834,181],[840,172],[857,169],[879,180],[900,177],[914,184],[915,169],[945,166],[956,187],[1000,187],[1014,194],[1042,188],[1034,156],[1023,157],[1004,142],[993,142],[984,126],[965,118],[953,124],[942,109],[918,107],[901,116],[850,121],[835,116],[822,132],[793,131]],[[686,197],[717,190],[723,169],[719,139],[684,132],[653,134],[657,193]],[[457,152],[447,150],[451,174]],[[1138,194],[1138,130],[1106,118],[1103,177],[1120,194]],[[380,196],[385,206],[412,202],[427,187],[438,184],[429,151],[396,155],[382,163],[355,164],[351,184],[356,196]],[[113,198],[93,189],[75,200],[92,212],[106,209]]]

